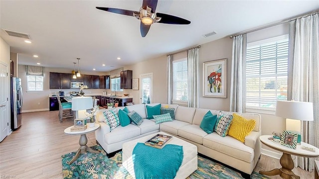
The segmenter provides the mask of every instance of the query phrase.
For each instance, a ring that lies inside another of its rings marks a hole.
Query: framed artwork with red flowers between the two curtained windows
[[[203,97],[227,97],[227,58],[203,62]]]

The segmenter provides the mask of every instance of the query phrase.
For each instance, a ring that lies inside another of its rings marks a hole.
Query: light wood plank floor
[[[22,126],[0,143],[0,179],[61,179],[61,156],[79,147],[80,136],[64,134],[71,125],[72,119],[59,123],[58,111],[23,113]],[[96,144],[94,132],[87,137],[88,146]],[[274,168],[280,168],[279,160],[262,155],[254,171]],[[293,171],[301,179],[314,179],[314,172]]]

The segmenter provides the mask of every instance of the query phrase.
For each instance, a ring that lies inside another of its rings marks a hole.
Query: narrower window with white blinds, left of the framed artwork
[[[188,79],[187,79],[187,59],[174,60],[172,62],[172,84],[173,102],[187,103],[188,101]]]

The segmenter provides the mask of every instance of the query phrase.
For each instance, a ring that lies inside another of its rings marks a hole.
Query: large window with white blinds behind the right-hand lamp
[[[247,44],[246,108],[275,110],[287,100],[288,35]]]

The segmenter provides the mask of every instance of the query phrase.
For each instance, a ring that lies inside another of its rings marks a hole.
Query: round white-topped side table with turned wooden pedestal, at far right
[[[300,177],[295,175],[294,172],[292,171],[295,165],[294,165],[293,159],[291,158],[291,155],[309,157],[309,158],[319,157],[319,149],[315,146],[312,146],[305,142],[301,142],[301,145],[297,145],[296,149],[292,149],[284,145],[281,145],[280,143],[275,143],[272,140],[269,140],[268,139],[269,137],[272,137],[272,135],[263,135],[263,136],[260,136],[259,138],[260,138],[260,141],[266,146],[272,149],[275,149],[277,151],[283,152],[283,155],[280,158],[280,164],[282,168],[273,169],[267,172],[260,171],[259,174],[268,175],[268,176],[280,175],[280,177],[283,179],[300,179]],[[304,150],[302,149],[302,146],[315,148],[316,151],[311,152],[311,151]]]

